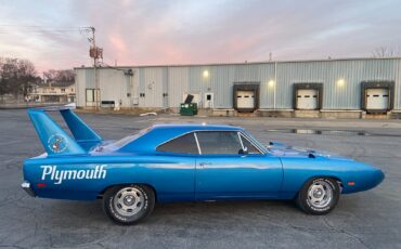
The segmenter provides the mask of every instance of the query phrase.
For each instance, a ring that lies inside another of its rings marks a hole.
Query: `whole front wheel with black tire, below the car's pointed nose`
[[[329,178],[314,178],[303,184],[295,201],[306,213],[323,215],[336,207],[339,194],[340,188],[337,181]],[[320,199],[322,200],[319,201]]]

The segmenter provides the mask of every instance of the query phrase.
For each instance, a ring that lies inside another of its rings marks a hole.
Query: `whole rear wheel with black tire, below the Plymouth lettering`
[[[145,185],[124,185],[107,189],[103,210],[117,224],[132,225],[148,217],[155,206],[155,193]]]

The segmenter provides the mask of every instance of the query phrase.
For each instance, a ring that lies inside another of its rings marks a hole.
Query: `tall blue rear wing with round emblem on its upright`
[[[74,139],[47,112],[60,112]],[[70,107],[28,109],[28,116],[48,155],[87,154],[103,139],[80,119]]]

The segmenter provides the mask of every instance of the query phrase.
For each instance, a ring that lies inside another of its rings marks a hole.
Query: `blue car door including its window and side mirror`
[[[195,133],[196,199],[268,198],[277,196],[283,169],[277,157],[258,149],[241,131]],[[244,154],[247,147],[248,154]]]

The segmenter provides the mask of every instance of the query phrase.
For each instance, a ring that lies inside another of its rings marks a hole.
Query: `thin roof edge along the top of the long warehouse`
[[[311,58],[311,60],[283,60],[283,61],[259,61],[259,62],[241,62],[241,63],[198,63],[198,64],[155,64],[155,65],[127,65],[127,66],[101,66],[98,68],[143,68],[143,67],[198,67],[198,66],[230,66],[230,65],[257,65],[257,64],[275,64],[275,63],[307,63],[307,62],[340,62],[340,61],[372,61],[372,60],[401,60],[398,57],[342,57],[342,58]],[[74,67],[74,69],[91,69],[93,66]]]

